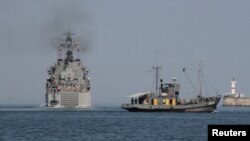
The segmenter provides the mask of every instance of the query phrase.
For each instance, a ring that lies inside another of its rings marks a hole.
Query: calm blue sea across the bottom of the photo
[[[250,107],[214,113],[131,113],[119,107],[0,106],[2,141],[201,141],[208,124],[250,124]]]

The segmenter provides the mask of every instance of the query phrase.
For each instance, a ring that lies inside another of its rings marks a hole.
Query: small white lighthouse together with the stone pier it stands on
[[[223,97],[223,106],[250,106],[250,98],[244,93],[236,92],[236,80],[231,81],[231,92],[225,93]]]

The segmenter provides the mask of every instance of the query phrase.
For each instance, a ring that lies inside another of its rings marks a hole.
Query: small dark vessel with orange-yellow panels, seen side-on
[[[158,69],[156,70],[156,91],[142,92],[128,96],[131,103],[121,105],[121,108],[130,112],[213,112],[219,103],[221,96],[204,97],[199,93],[195,98],[186,101],[180,98],[180,84],[176,83],[176,78],[172,82],[163,83],[160,79],[158,88]],[[186,69],[183,68],[183,72]]]

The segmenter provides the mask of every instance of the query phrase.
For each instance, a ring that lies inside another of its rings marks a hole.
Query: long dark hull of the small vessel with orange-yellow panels
[[[220,98],[216,101],[201,103],[201,104],[186,104],[186,105],[147,105],[147,104],[122,104],[123,109],[130,112],[213,112]]]

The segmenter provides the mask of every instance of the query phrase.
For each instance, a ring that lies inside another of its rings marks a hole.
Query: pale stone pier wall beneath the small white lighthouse
[[[224,96],[223,106],[250,106],[250,98]]]

